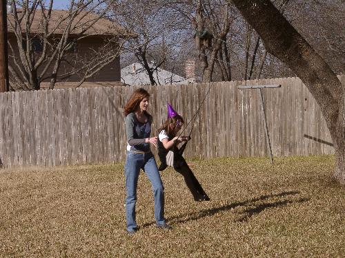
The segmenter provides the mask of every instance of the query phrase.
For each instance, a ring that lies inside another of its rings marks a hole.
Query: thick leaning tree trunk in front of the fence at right
[[[335,178],[345,183],[345,96],[335,73],[269,0],[232,0],[268,52],[306,85],[319,104],[335,148]]]

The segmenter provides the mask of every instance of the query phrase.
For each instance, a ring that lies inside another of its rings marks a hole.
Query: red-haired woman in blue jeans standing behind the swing
[[[125,165],[126,219],[130,235],[138,229],[135,221],[135,203],[140,169],[143,169],[152,184],[157,227],[164,230],[171,228],[164,219],[164,186],[155,157],[150,150],[150,144],[156,146],[157,137],[150,138],[152,116],[147,112],[149,98],[150,94],[145,89],[137,89],[124,108],[128,142]]]

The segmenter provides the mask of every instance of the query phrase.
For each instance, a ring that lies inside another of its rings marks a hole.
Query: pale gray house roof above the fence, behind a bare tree
[[[186,79],[172,72],[157,68],[153,74],[158,85],[177,85],[194,83],[194,78]],[[126,85],[150,85],[150,78],[143,65],[133,63],[121,69],[121,82]]]

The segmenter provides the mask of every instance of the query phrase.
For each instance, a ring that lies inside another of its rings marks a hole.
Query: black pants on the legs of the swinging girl
[[[192,193],[195,201],[210,200],[197,178],[195,178],[193,171],[188,166],[184,157],[178,153],[174,153],[174,169],[184,176],[184,181],[186,182],[186,185],[188,186],[190,193]]]

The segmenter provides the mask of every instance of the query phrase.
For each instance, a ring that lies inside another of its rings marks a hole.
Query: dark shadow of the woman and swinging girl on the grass
[[[255,202],[268,200],[270,198],[276,198],[276,197],[288,197],[290,195],[297,195],[299,192],[297,191],[288,191],[288,192],[282,192],[277,194],[271,194],[271,195],[262,195],[257,198],[253,198],[250,200],[246,200],[244,202],[234,202],[232,204],[226,204],[217,208],[209,208],[204,209],[195,213],[188,213],[188,214],[181,214],[174,217],[168,217],[169,222],[174,222],[175,224],[182,224],[191,220],[197,220],[201,219],[202,217],[209,217],[213,216],[217,213],[223,212],[223,211],[229,211],[233,208],[237,208],[240,206],[253,206],[255,205]],[[247,208],[243,213],[244,216],[240,219],[237,219],[236,222],[244,222],[250,217],[253,217],[253,215],[257,215],[261,213],[262,211],[266,210],[267,208],[276,208],[279,206],[286,206],[288,204],[293,203],[299,203],[299,202],[307,202],[308,199],[306,198],[300,198],[299,200],[281,200],[277,202],[269,202],[266,204],[257,204],[254,208]],[[143,228],[151,226],[152,224],[155,224],[155,222],[146,223],[143,225]]]

